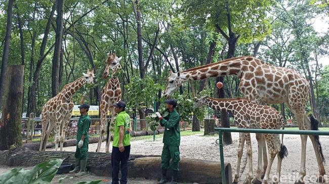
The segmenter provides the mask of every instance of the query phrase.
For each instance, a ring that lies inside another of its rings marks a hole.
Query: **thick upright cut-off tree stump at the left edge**
[[[4,105],[0,122],[0,150],[22,145],[22,98],[24,65],[8,67],[4,85]]]

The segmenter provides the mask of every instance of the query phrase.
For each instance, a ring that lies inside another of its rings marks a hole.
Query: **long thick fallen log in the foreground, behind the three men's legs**
[[[33,166],[51,158],[64,159],[64,162],[75,163],[74,152],[33,151],[21,147],[13,150],[0,151],[0,165]],[[154,155],[130,155],[128,161],[128,177],[142,177],[157,179],[160,177],[161,157]],[[219,162],[181,158],[178,180],[182,182],[219,183],[221,182],[221,169]],[[111,154],[88,153],[87,168],[96,175],[111,175]],[[225,163],[227,183],[232,183],[232,170],[230,163]],[[191,177],[192,176],[192,177]],[[168,179],[171,172],[168,172]]]

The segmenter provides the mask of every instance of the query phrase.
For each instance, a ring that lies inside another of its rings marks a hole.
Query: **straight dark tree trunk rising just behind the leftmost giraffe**
[[[60,70],[60,55],[62,49],[62,33],[63,33],[63,7],[64,0],[56,1],[56,37],[55,37],[55,49],[53,56],[53,68],[52,68],[52,97],[55,97],[59,90],[59,70]]]

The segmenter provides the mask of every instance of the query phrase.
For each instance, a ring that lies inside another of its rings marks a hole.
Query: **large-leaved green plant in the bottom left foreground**
[[[21,183],[21,184],[36,184],[50,183],[54,178],[63,159],[50,159],[48,162],[38,163],[32,169],[24,170],[23,168],[14,168],[8,172],[0,174],[0,183]],[[96,184],[101,180],[82,181],[78,184]]]

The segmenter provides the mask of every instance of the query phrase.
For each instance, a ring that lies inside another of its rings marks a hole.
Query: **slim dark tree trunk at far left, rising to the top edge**
[[[8,1],[7,9],[7,25],[6,25],[6,36],[5,36],[5,45],[4,53],[1,61],[1,74],[0,74],[0,108],[3,106],[3,96],[4,96],[4,82],[7,71],[8,57],[9,57],[9,44],[10,44],[10,35],[12,33],[12,17],[13,17],[13,2],[14,0]]]

